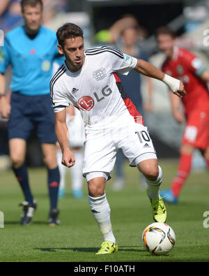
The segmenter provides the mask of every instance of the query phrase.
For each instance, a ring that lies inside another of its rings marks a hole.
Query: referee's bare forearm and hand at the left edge
[[[5,75],[0,73],[0,114],[1,117],[8,119],[11,107],[8,98],[6,97],[5,84]]]

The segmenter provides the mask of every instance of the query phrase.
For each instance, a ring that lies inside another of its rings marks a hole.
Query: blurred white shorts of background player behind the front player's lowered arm
[[[77,108],[75,108],[75,116],[72,121],[69,122],[69,120],[70,116],[67,115],[66,121],[68,126],[70,147],[83,147],[85,141],[84,121]]]

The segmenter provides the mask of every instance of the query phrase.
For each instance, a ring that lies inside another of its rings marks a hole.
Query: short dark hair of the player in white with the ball
[[[59,42],[59,45],[63,47],[65,39],[76,38],[81,36],[84,38],[84,31],[73,23],[65,23],[56,31],[56,38]]]

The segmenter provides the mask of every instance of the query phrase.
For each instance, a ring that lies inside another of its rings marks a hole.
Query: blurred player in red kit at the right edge
[[[173,117],[178,123],[186,119],[178,173],[173,179],[171,189],[161,191],[164,201],[177,203],[180,190],[187,180],[192,164],[192,153],[198,148],[206,159],[209,168],[209,93],[206,82],[209,71],[199,57],[188,50],[176,46],[176,36],[168,27],[157,29],[158,47],[167,56],[162,71],[173,78],[182,80],[187,95],[182,98],[184,115],[180,112],[180,98],[171,95]]]

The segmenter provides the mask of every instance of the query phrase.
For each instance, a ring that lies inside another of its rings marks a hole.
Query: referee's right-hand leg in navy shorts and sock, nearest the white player
[[[60,224],[57,210],[59,192],[59,167],[56,159],[56,134],[54,131],[54,112],[50,103],[50,95],[45,94],[34,99],[36,113],[33,122],[40,140],[45,165],[47,166],[47,185],[49,189],[49,225]]]

